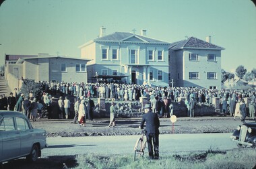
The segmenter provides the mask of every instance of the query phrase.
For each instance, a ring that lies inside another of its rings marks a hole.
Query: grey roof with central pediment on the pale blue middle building
[[[91,44],[92,42],[115,42],[115,43],[133,43],[133,44],[134,43],[143,43],[143,44],[162,44],[162,45],[170,44],[168,42],[163,42],[160,40],[148,38],[146,36],[140,36],[137,34],[132,34],[129,32],[115,32],[113,34],[109,34],[106,36],[102,36],[100,38],[96,38],[95,40],[92,40],[82,46],[79,46],[79,48],[87,46],[88,44]]]

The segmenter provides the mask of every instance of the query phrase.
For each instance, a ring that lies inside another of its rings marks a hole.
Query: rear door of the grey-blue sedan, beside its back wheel
[[[17,129],[20,131],[20,153],[22,155],[30,154],[33,139],[34,131],[30,128],[29,122],[22,117],[15,117]]]

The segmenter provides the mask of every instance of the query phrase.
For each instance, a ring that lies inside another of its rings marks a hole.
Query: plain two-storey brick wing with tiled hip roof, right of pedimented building
[[[170,79],[174,87],[221,89],[221,51],[224,48],[194,37],[170,44]]]

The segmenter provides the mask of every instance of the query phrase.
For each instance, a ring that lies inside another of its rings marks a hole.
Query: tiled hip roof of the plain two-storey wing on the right
[[[180,49],[211,49],[211,50],[224,50],[224,48],[220,46],[216,46],[214,44],[210,44],[203,40],[199,40],[194,38],[193,36],[188,38],[187,40],[181,40],[179,42],[174,42],[170,44],[171,50],[180,50]]]

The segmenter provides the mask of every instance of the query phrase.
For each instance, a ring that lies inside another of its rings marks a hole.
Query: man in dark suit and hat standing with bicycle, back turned
[[[151,159],[157,160],[159,158],[159,126],[160,126],[160,122],[158,119],[158,115],[151,111],[150,104],[145,105],[144,111],[146,114],[143,115],[139,128],[143,129],[144,123],[146,122],[146,137],[147,137],[147,142],[148,142],[148,154]],[[154,145],[154,154],[153,154],[152,139],[153,139],[153,145]]]

